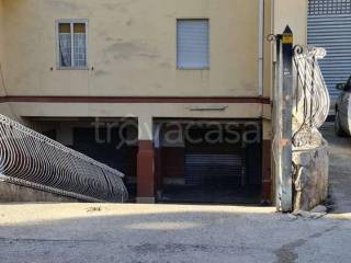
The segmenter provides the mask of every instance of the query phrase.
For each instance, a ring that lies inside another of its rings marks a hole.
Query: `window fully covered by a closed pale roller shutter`
[[[177,20],[178,69],[210,68],[210,20]]]

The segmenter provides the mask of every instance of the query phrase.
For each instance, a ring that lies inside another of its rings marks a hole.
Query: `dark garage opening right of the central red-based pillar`
[[[168,152],[163,158],[183,161],[173,178],[162,165],[162,175],[168,176],[162,180],[161,202],[260,203],[261,126],[257,123],[233,127],[228,129],[226,123],[220,127],[217,124],[212,127],[208,123],[196,124],[194,128],[182,125],[183,151],[179,150],[180,147],[163,146],[161,149],[161,152]],[[172,151],[174,155],[170,153]]]

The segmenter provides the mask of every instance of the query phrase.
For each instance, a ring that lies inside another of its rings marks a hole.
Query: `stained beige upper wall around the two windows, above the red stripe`
[[[4,11],[10,95],[259,95],[259,0],[4,0]],[[210,70],[177,70],[181,18],[211,20]],[[56,70],[58,19],[89,20],[93,71]]]

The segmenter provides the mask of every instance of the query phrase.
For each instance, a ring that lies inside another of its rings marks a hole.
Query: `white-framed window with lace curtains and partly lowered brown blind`
[[[59,20],[56,34],[58,69],[87,69],[88,21]]]

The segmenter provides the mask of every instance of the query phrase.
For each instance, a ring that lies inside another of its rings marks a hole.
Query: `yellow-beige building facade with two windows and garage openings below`
[[[270,202],[274,45],[307,0],[2,0],[0,113],[138,202]],[[133,194],[132,194],[133,195]]]

